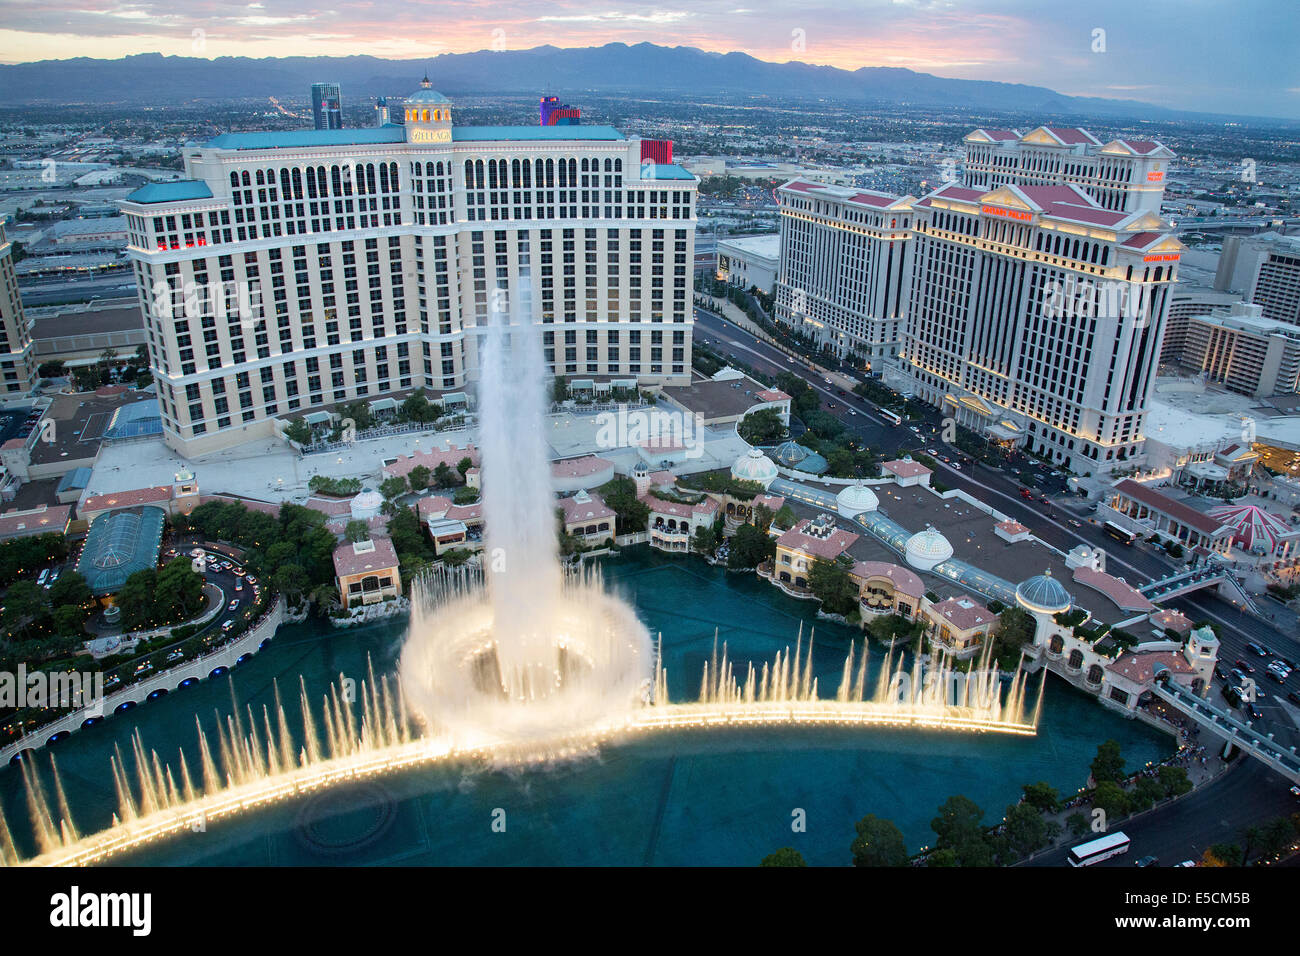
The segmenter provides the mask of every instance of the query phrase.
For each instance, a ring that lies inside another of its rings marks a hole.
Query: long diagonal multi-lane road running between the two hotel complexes
[[[922,432],[918,436],[907,427],[892,425],[885,421],[878,415],[875,406],[848,389],[827,385],[826,376],[811,369],[806,359],[794,358],[792,360],[780,349],[718,315],[697,308],[694,334],[701,343],[744,362],[764,375],[776,376],[783,372],[798,375],[822,395],[823,408],[840,419],[846,432],[861,444],[872,445],[889,455],[918,449],[923,451],[933,449],[939,453],[937,466],[941,471],[939,477],[945,485],[959,488],[988,502],[1061,551],[1069,551],[1080,542],[1101,548],[1106,551],[1106,570],[1135,585],[1164,578],[1176,570],[1173,561],[1145,542],[1124,548],[1097,524],[1091,523],[1083,499],[1066,494],[1063,479],[1053,479],[1052,470],[1039,462],[1017,457],[1009,460],[1006,467],[1019,468],[1022,472],[1031,470],[1035,473],[1039,492],[1053,492],[1053,497],[1046,505],[1039,499],[1024,501],[1020,497],[1020,483],[1006,471],[983,463],[959,467],[945,463],[944,457],[957,462],[965,455],[941,441],[939,436],[941,416],[937,410],[930,410],[926,419],[916,423]],[[1079,522],[1082,527],[1075,528],[1070,524],[1071,520]],[[1024,571],[1027,576],[1031,570],[1024,568]],[[1268,605],[1269,601],[1265,598],[1261,604]],[[1219,659],[1228,669],[1238,659],[1249,661],[1253,665],[1261,662],[1260,658],[1247,652],[1245,645],[1249,641],[1260,641],[1291,661],[1300,662],[1300,640],[1296,640],[1294,632],[1278,630],[1271,623],[1242,610],[1228,597],[1221,596],[1216,591],[1195,592],[1165,602],[1164,606],[1176,607],[1192,620],[1210,619],[1216,622],[1219,626],[1222,641]],[[1300,708],[1287,710],[1278,702],[1278,697],[1284,697],[1287,691],[1300,693],[1300,669],[1291,675],[1284,685],[1264,679],[1264,667],[1261,666],[1257,666],[1254,678],[1262,692],[1258,705],[1264,714],[1257,724],[1265,732],[1273,731],[1277,740],[1284,747],[1300,747],[1300,724],[1292,715],[1300,714]],[[1278,693],[1279,691],[1280,693]]]

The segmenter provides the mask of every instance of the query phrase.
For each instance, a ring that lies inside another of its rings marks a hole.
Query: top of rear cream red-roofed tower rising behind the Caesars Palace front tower
[[[1102,143],[1088,130],[1039,126],[978,129],[966,135],[962,185],[988,191],[998,186],[1078,186],[1104,209],[1158,212],[1173,151],[1150,139]]]

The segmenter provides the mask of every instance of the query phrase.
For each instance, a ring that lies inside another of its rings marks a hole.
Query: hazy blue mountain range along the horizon
[[[949,107],[971,112],[1043,116],[1180,118],[1197,116],[1134,100],[1066,96],[1041,86],[949,79],[914,70],[864,66],[844,70],[805,62],[767,62],[748,53],[694,47],[607,43],[602,47],[443,53],[429,60],[347,57],[200,57],[140,53],[118,60],[77,57],[0,65],[8,105],[116,103],[170,105],[291,96],[304,100],[313,82],[338,82],[344,101],[399,95],[428,72],[447,94],[558,92],[753,95],[768,99]]]

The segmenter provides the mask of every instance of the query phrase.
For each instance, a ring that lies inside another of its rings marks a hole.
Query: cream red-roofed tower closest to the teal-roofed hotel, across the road
[[[841,358],[897,355],[915,200],[805,179],[785,183],[777,198],[776,320]]]

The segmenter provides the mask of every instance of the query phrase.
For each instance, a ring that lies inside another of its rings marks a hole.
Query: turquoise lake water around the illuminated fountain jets
[[[838,680],[854,632],[818,622],[751,575],[727,575],[697,559],[632,549],[604,562],[608,587],[663,635],[675,698],[694,696],[714,632],[733,659],[768,659],[793,644],[801,623],[816,628],[814,671],[823,696]],[[52,754],[82,831],[107,826],[116,796],[108,758],[130,753],[139,727],[147,748],[176,762],[195,752],[194,715],[211,727],[231,700],[254,713],[273,705],[278,679],[296,726],[298,679],[311,696],[344,674],[391,672],[402,627],[332,631],[313,622],[282,628],[229,680],[204,682],[42,752]],[[876,654],[879,658],[880,654]],[[1169,737],[1126,721],[1062,682],[1050,680],[1036,737],[898,730],[685,731],[607,748],[599,757],[526,773],[421,769],[367,782],[238,821],[213,825],[122,862],[165,865],[753,865],[794,845],[811,864],[849,862],[853,823],[867,813],[893,819],[909,845],[933,836],[940,803],[963,793],[997,819],[1022,783],[1080,787],[1097,743],[1114,737],[1130,763],[1173,749]],[[191,765],[192,766],[192,765]],[[52,792],[52,791],[51,791]],[[14,836],[30,847],[21,775],[0,770],[0,803]],[[806,818],[792,831],[793,814]],[[504,832],[500,829],[504,822]]]

